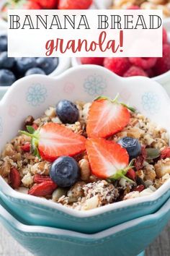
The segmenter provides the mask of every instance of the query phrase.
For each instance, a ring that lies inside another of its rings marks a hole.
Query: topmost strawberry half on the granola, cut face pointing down
[[[92,103],[87,118],[86,132],[88,137],[109,137],[120,132],[130,121],[128,106],[99,97]],[[133,108],[129,108],[134,111]]]

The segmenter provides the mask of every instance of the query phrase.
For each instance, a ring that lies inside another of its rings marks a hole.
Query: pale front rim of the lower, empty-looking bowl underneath
[[[149,214],[147,216],[142,216],[140,218],[135,218],[132,221],[126,221],[125,223],[118,224],[117,226],[111,227],[109,229],[105,229],[104,231],[99,231],[94,234],[84,234],[77,231],[70,231],[66,229],[58,229],[53,228],[49,226],[30,226],[23,224],[14,216],[12,216],[12,213],[9,213],[9,210],[2,207],[0,205],[0,216],[1,218],[4,218],[5,221],[10,223],[14,227],[14,229],[17,229],[18,231],[22,231],[24,233],[38,233],[40,234],[49,234],[51,236],[70,236],[73,239],[87,239],[91,242],[94,242],[95,240],[104,239],[105,237],[112,236],[115,234],[119,234],[122,231],[125,231],[125,229],[132,229],[135,226],[140,225],[141,223],[148,223],[149,226],[152,226],[153,223],[157,223],[159,219],[164,218],[164,216],[170,212],[170,198],[167,200],[161,208],[159,208],[156,213]],[[147,225],[148,226],[148,225]]]

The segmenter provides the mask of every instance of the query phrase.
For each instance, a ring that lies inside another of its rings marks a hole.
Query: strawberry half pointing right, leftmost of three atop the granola
[[[53,162],[62,155],[73,156],[85,150],[85,137],[77,135],[61,124],[47,123],[39,129],[27,127],[22,134],[32,137],[32,150],[35,155]],[[30,133],[29,133],[30,132]]]

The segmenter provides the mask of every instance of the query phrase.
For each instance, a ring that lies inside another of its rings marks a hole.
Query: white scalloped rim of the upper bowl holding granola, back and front
[[[23,77],[20,80],[17,80],[14,82],[14,84],[11,86],[11,88],[7,91],[7,93],[4,95],[4,98],[0,101],[0,108],[4,108],[6,106],[6,101],[8,101],[8,98],[10,97],[10,94],[14,93],[14,89],[19,85],[22,85],[22,82],[26,82],[27,80],[30,80],[33,76],[36,77],[37,79],[39,77],[43,77],[44,81],[49,82],[49,80],[63,80],[66,76],[69,76],[70,74],[74,74],[74,72],[81,72],[81,70],[93,70],[93,71],[101,71],[104,72],[106,75],[112,75],[112,77],[116,77],[117,79],[120,80],[129,80],[129,81],[138,81],[138,80],[143,80],[143,82],[151,82],[154,87],[159,88],[162,93],[164,94],[164,97],[166,101],[169,101],[170,99],[169,96],[167,95],[166,91],[164,88],[162,88],[161,85],[159,85],[156,81],[149,79],[148,77],[128,77],[128,78],[123,78],[119,77],[116,74],[110,72],[108,69],[104,69],[103,67],[99,67],[97,65],[82,65],[79,67],[72,67],[71,69],[66,70],[66,72],[63,72],[63,74],[60,74],[58,77],[45,77],[40,74],[35,74],[32,76],[28,77]],[[57,83],[56,83],[57,84]],[[112,212],[112,210],[119,210],[120,208],[134,208],[137,205],[143,205],[143,204],[149,204],[151,202],[156,202],[157,200],[161,200],[161,197],[166,195],[170,188],[170,179],[166,183],[164,183],[161,187],[159,187],[156,192],[153,192],[153,194],[148,195],[148,196],[143,196],[143,197],[137,197],[129,200],[124,200],[116,203],[112,203],[110,205],[104,205],[100,208],[95,208],[92,210],[87,210],[87,211],[80,211],[80,210],[75,210],[71,208],[67,208],[64,205],[57,204],[56,202],[52,202],[50,200],[44,200],[40,197],[34,197],[30,195],[26,195],[21,192],[17,192],[16,190],[12,189],[12,187],[7,184],[4,179],[0,176],[0,181],[1,181],[1,191],[6,195],[7,197],[12,197],[15,200],[22,200],[23,203],[30,202],[32,205],[39,205],[40,208],[45,208],[45,209],[50,209],[53,208],[53,210],[57,210],[61,213],[65,213],[66,215],[69,216],[74,216],[76,218],[93,218],[94,216],[99,216],[102,214],[108,214]]]

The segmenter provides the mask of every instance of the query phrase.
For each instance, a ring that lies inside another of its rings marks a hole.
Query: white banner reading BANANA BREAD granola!
[[[162,56],[161,10],[9,10],[8,54]]]

